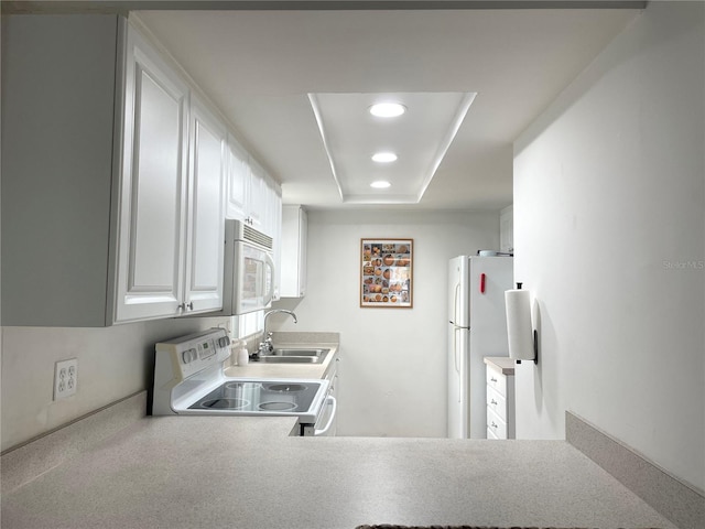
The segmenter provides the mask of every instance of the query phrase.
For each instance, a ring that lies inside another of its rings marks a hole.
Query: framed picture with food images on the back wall
[[[361,239],[360,306],[413,306],[413,239]]]

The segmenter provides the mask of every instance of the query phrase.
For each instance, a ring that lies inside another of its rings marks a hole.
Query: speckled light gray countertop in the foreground
[[[564,441],[291,438],[293,423],[138,420],[3,494],[2,526],[675,529]]]

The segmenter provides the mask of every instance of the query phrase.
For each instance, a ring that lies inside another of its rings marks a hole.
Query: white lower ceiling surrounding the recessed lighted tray
[[[284,203],[351,207],[340,198],[308,94],[477,93],[421,202],[394,207],[478,210],[512,203],[513,140],[638,13],[139,11],[138,17],[282,183]],[[360,176],[367,185],[368,175]]]

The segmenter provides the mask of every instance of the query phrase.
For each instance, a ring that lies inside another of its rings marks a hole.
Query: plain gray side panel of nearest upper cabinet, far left
[[[110,325],[124,19],[2,23],[2,325]]]

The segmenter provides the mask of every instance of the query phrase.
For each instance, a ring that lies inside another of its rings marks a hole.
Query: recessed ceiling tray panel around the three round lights
[[[476,94],[310,94],[340,198],[349,204],[416,204],[463,123]],[[379,102],[406,108],[402,116],[370,114]],[[389,152],[393,162],[372,155]],[[372,188],[388,182],[389,188]]]

